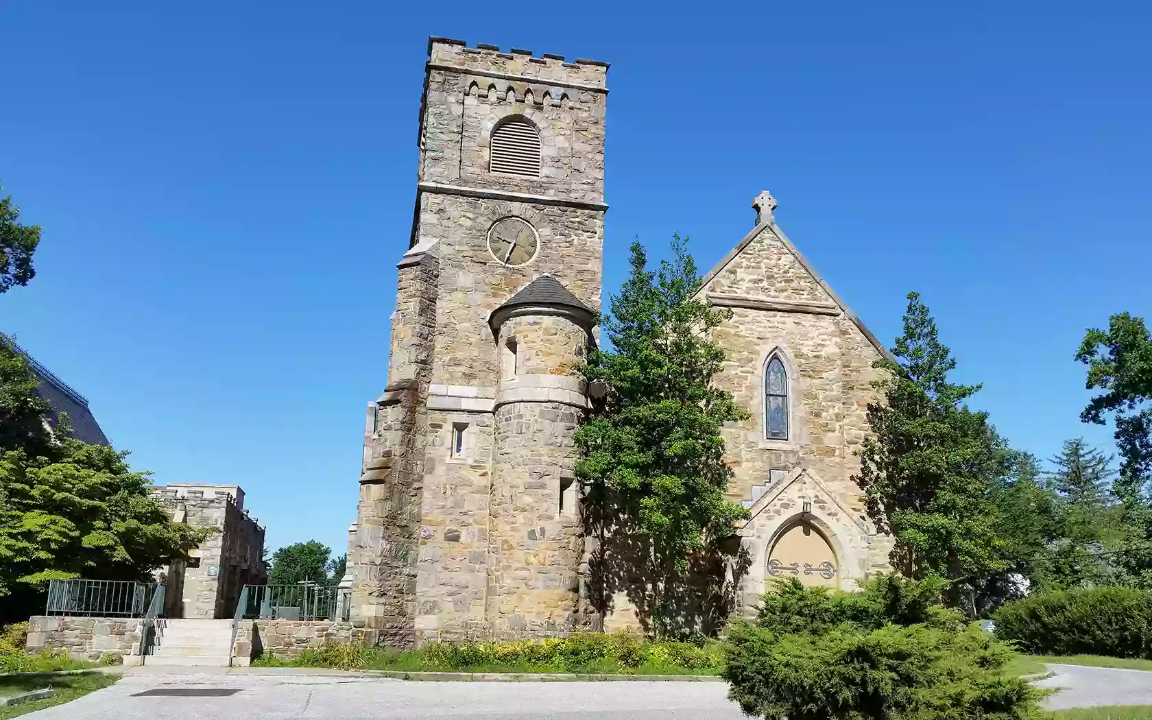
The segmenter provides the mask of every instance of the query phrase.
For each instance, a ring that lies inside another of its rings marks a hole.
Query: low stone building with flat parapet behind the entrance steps
[[[177,560],[166,570],[167,617],[233,617],[244,585],[268,582],[264,567],[264,528],[244,510],[238,485],[173,483],[152,488],[172,510],[172,518],[192,528],[215,528],[188,561]]]

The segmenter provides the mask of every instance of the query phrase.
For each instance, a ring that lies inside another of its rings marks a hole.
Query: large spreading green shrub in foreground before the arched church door
[[[770,720],[1017,720],[1039,692],[1011,649],[938,606],[939,581],[880,577],[855,594],[781,583],[728,630],[721,675]]]

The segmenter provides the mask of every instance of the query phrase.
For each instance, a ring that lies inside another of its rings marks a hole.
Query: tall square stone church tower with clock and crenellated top
[[[607,63],[431,38],[367,408],[351,616],[393,646],[584,623],[571,435],[604,238]]]

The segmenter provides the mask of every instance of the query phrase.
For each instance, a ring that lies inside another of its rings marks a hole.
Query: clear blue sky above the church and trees
[[[1152,314],[1146,3],[628,5],[5,2],[0,182],[44,241],[0,328],[157,482],[343,552],[442,35],[612,62],[606,295],[635,236],[711,267],[768,189],[882,341],[924,293],[1017,447],[1108,441],[1073,355]]]

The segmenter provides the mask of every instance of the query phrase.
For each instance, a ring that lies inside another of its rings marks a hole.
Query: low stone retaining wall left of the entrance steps
[[[28,651],[65,650],[76,660],[99,660],[104,653],[136,665],[139,658],[141,620],[131,617],[58,617],[33,615],[28,619]]]

